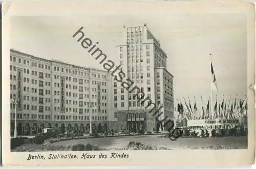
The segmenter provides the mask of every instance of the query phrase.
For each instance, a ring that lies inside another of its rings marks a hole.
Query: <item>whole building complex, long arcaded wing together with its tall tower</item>
[[[124,27],[117,53],[120,70],[137,90],[124,88],[111,72],[11,49],[11,135],[15,110],[18,135],[36,134],[45,127],[88,133],[90,114],[96,132],[165,130],[152,115],[159,109],[159,120],[174,120],[174,76],[167,71],[160,42],[146,25]]]

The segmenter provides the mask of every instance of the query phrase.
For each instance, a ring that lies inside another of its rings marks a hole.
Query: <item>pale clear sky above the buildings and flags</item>
[[[236,17],[234,16],[236,15]],[[231,17],[232,16],[232,17]],[[13,16],[11,48],[36,57],[103,69],[72,35],[84,27],[86,37],[119,65],[116,45],[122,29],[146,23],[167,53],[167,70],[174,75],[174,99],[190,97],[207,103],[210,60],[215,71],[218,100],[246,95],[246,15],[148,12],[141,15],[87,14],[78,16]],[[224,96],[223,96],[224,95]],[[205,105],[206,106],[206,105]]]

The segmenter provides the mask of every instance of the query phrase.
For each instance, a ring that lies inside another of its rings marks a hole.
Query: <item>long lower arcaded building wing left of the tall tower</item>
[[[106,71],[34,57],[10,50],[11,135],[15,105],[18,135],[33,135],[45,127],[61,132],[108,130],[111,77]],[[17,104],[13,104],[13,99]],[[94,106],[90,107],[89,103]]]

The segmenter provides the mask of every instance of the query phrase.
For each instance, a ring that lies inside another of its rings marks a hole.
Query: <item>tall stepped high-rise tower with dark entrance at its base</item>
[[[160,46],[160,41],[144,26],[123,28],[123,43],[117,46],[120,58],[121,70],[126,77],[134,82],[144,98],[151,99],[155,103],[155,109],[159,108],[163,114],[159,120],[165,117],[174,119],[173,78],[167,71],[167,54]],[[138,101],[136,90],[126,90],[121,82],[112,78],[112,105],[114,117],[110,118],[110,127],[118,130],[127,129],[130,132],[138,130],[161,131],[165,130],[159,124],[156,117],[150,113],[153,106],[148,106],[148,100]],[[167,127],[167,126],[166,126]]]

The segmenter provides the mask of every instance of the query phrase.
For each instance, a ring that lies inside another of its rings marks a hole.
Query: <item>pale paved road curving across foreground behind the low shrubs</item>
[[[224,146],[227,148],[247,148],[247,137],[221,137],[221,138],[178,138],[176,141],[171,141],[169,138],[158,137],[159,135],[138,135],[138,136],[122,136],[122,137],[103,137],[103,138],[88,138],[75,139],[63,142],[54,143],[54,145],[69,145],[69,144],[94,144],[98,147],[124,147],[129,142],[141,142],[144,144],[164,146],[173,149],[188,148],[188,147],[210,147]]]

